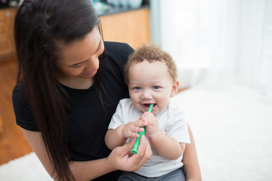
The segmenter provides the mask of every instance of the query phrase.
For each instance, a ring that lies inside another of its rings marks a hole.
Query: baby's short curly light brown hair
[[[137,50],[129,56],[128,62],[124,66],[125,83],[129,84],[129,68],[136,63],[142,61],[160,61],[165,62],[170,76],[173,81],[178,79],[178,69],[172,56],[166,51],[162,50],[161,46],[155,44],[144,43]]]

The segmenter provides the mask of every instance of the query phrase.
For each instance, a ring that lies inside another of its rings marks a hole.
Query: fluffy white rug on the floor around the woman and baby
[[[272,103],[243,86],[173,97],[187,116],[203,181],[272,181]],[[51,181],[34,153],[0,166],[1,181]]]

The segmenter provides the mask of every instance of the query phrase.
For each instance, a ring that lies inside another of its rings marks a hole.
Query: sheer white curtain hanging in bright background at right
[[[181,87],[238,83],[272,100],[272,0],[151,0],[154,22]]]

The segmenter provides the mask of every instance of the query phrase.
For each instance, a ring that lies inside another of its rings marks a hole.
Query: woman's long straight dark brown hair
[[[24,0],[15,17],[17,83],[24,84],[54,172],[61,181],[74,177],[69,168],[65,90],[54,78],[56,42],[82,39],[99,23],[89,0]]]

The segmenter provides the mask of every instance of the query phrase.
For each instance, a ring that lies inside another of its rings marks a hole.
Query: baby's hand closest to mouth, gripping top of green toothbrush
[[[150,137],[157,133],[157,131],[159,130],[158,120],[151,112],[144,112],[140,117],[140,120],[148,123],[145,127],[146,136]]]

